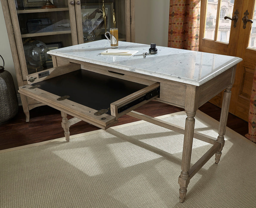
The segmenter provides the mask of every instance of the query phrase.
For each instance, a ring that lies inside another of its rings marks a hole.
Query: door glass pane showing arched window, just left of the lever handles
[[[218,2],[216,2],[217,4]],[[222,0],[220,8],[220,18],[218,27],[218,37],[217,41],[229,42],[230,28],[232,21],[229,19],[224,19],[225,16],[232,18],[232,13],[234,9],[234,0]],[[233,23],[234,24],[234,23]]]

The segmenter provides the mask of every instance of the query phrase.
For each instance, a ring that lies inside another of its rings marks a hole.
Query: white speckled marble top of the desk
[[[137,50],[134,56],[101,55],[109,49],[108,40],[72,45],[47,53],[83,62],[99,64],[167,80],[200,86],[242,61],[234,56],[188,51],[156,46],[155,55],[138,56],[148,52],[150,45],[119,41],[118,49]]]

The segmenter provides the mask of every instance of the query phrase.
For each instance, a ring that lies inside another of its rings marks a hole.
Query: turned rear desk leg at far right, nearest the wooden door
[[[227,125],[227,119],[229,114],[229,103],[230,103],[230,97],[231,97],[231,88],[232,86],[228,86],[224,91],[223,101],[222,101],[222,107],[221,107],[221,118],[220,118],[220,124],[219,124],[219,130],[218,130],[218,138],[217,141],[221,143],[221,148],[215,153],[215,163],[218,164],[220,161],[220,157],[222,154],[222,149],[224,146],[224,135],[226,132],[226,125]]]

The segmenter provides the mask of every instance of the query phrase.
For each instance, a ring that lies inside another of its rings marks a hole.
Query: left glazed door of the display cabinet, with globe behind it
[[[75,5],[68,0],[10,0],[9,8],[19,50],[23,80],[25,75],[53,67],[46,52],[77,44]]]

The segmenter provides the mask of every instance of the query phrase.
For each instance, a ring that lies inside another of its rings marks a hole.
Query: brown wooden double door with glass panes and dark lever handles
[[[201,1],[199,51],[238,56],[243,59],[237,66],[229,112],[248,121],[250,94],[256,65],[256,0],[203,0]],[[247,10],[247,12],[246,12]],[[244,28],[243,18],[249,19]],[[235,18],[237,23],[225,18]],[[223,92],[211,103],[221,107]]]

